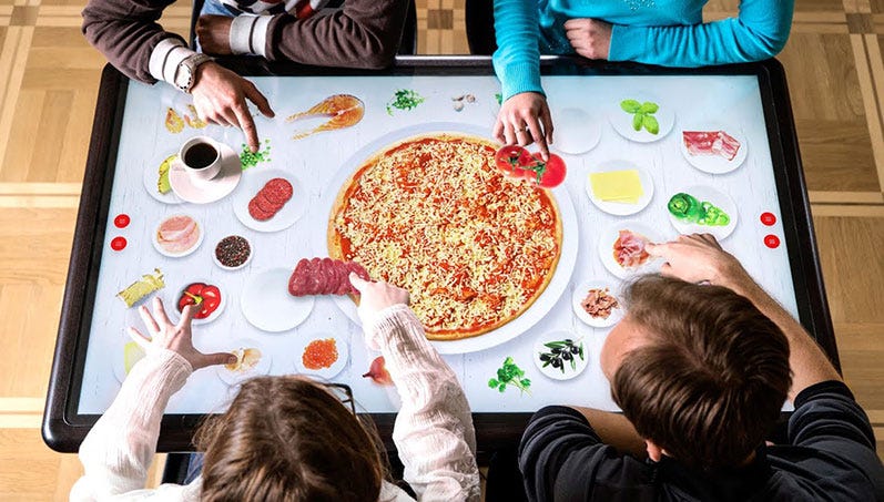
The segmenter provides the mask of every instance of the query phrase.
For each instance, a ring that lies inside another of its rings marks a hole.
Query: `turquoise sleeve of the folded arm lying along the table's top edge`
[[[776,55],[789,39],[794,0],[742,0],[736,18],[675,27],[616,24],[608,59],[705,66]]]

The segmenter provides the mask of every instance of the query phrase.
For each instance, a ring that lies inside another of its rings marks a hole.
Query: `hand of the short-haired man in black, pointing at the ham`
[[[709,281],[732,288],[749,278],[740,262],[710,234],[680,235],[671,243],[648,244],[644,249],[667,260],[660,270],[663,275],[688,283]]]

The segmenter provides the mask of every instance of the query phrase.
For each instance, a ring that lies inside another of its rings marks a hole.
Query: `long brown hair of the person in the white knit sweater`
[[[376,436],[376,433],[375,433]],[[207,501],[376,501],[385,475],[372,432],[303,377],[245,381],[194,440]]]

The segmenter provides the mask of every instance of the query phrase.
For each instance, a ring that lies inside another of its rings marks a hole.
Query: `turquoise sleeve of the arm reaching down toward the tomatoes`
[[[495,32],[498,49],[492,60],[504,100],[520,92],[542,94],[537,2],[495,0]]]

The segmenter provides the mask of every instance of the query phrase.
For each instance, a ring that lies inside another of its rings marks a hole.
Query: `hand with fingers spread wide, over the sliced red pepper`
[[[177,352],[191,363],[194,370],[212,365],[225,365],[236,362],[236,356],[230,352],[203,354],[193,347],[193,335],[191,332],[191,321],[193,320],[193,306],[187,305],[181,313],[179,324],[173,325],[165,315],[163,301],[160,297],[153,298],[153,315],[145,305],[139,307],[139,314],[148,327],[146,337],[132,326],[129,327],[129,336],[145,352],[150,354],[159,349],[169,349]]]

